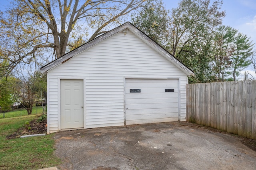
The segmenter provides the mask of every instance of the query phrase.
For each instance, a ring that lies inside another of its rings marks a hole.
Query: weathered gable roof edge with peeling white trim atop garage
[[[183,70],[187,75],[194,76],[194,72],[192,70],[190,70],[190,68],[188,68],[183,63],[178,61],[178,59],[176,59],[173,55],[171,55],[167,50],[165,50],[163,47],[161,47],[158,43],[156,43],[154,40],[152,40],[150,37],[148,37],[146,34],[144,34],[142,31],[140,31],[140,29],[138,29],[136,26],[132,25],[132,23],[130,23],[130,22],[126,22],[126,23],[120,25],[119,27],[116,27],[116,28],[108,31],[107,33],[104,33],[103,35],[96,37],[92,41],[89,41],[89,42],[85,43],[84,45],[81,45],[80,47],[70,51],[69,53],[66,53],[62,57],[42,66],[40,68],[40,71],[42,73],[48,72],[49,70],[54,69],[55,67],[59,66],[60,64],[65,63],[72,57],[78,55],[82,51],[92,47],[93,45],[95,45],[97,43],[100,43],[104,39],[106,39],[116,33],[119,33],[120,31],[125,31],[125,29],[128,29],[129,31],[134,33],[134,35],[136,35],[137,37],[142,39],[142,41],[144,41],[144,43],[148,44],[152,49],[158,51],[158,53],[162,54],[163,57],[165,57],[171,63],[175,64],[178,68]]]

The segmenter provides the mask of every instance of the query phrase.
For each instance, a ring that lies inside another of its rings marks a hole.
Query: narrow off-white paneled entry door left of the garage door
[[[83,80],[60,80],[61,129],[84,127]]]

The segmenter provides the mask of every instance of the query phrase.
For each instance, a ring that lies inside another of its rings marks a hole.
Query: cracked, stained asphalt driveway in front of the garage
[[[256,152],[238,137],[187,122],[55,134],[59,170],[256,170]]]

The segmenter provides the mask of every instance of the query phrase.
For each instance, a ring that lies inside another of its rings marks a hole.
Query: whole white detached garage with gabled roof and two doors
[[[185,121],[194,73],[127,22],[46,64],[48,133]]]

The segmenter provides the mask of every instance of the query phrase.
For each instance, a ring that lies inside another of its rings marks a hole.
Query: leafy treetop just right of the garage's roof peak
[[[162,0],[148,0],[138,14],[132,16],[132,23],[160,45],[166,46],[170,17]]]

